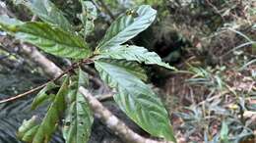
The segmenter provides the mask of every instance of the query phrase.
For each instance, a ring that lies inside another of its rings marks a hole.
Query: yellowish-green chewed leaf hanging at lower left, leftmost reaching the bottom
[[[40,124],[36,125],[34,119],[23,123],[18,132],[19,137],[23,141],[32,143],[46,143],[50,141],[51,135],[65,111],[65,96],[68,93],[68,83],[69,77],[67,76]]]

